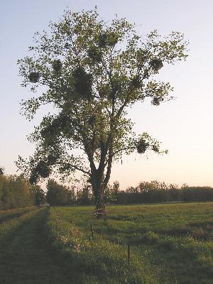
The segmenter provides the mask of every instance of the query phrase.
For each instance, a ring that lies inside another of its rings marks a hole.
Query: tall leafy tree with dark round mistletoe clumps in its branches
[[[155,76],[163,65],[185,60],[187,44],[177,32],[141,37],[125,18],[105,23],[97,9],[66,11],[49,28],[49,33],[35,33],[31,55],[18,64],[23,87],[39,90],[22,103],[23,114],[32,119],[44,104],[55,107],[55,114],[35,127],[29,138],[36,143],[35,154],[28,160],[19,157],[17,165],[31,172],[32,183],[52,170],[63,177],[80,171],[102,209],[114,160],[133,151],[164,153],[148,133],[133,133],[126,114],[147,98],[155,106],[172,99],[173,88]]]

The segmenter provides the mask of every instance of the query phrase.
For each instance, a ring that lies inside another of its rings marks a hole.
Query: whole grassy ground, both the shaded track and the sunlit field
[[[0,224],[2,283],[213,283],[213,203],[109,206],[107,221],[92,210],[38,208]]]

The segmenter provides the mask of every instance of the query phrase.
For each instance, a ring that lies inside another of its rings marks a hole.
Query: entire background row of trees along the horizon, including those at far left
[[[140,182],[136,187],[120,190],[119,182],[108,185],[104,194],[105,204],[138,204],[159,202],[204,202],[213,201],[212,187],[181,187],[156,180]],[[0,173],[0,210],[40,205],[51,206],[95,204],[92,187],[85,184],[76,189],[48,180],[47,192],[39,185],[31,185],[23,175]]]

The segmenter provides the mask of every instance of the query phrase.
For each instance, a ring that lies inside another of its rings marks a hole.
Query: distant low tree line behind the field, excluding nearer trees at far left
[[[50,205],[94,204],[94,197],[90,185],[84,185],[80,190],[59,185],[54,180],[48,181],[47,202]],[[213,201],[212,187],[181,187],[175,184],[166,184],[156,180],[140,182],[136,187],[120,190],[119,182],[108,185],[105,195],[105,204],[137,204],[158,202],[203,202]]]

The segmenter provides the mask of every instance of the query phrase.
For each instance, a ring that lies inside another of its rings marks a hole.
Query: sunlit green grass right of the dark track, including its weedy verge
[[[109,279],[111,283],[213,283],[213,203],[108,206],[107,221],[91,219],[92,210],[93,207],[51,209],[62,226],[72,227],[68,235],[60,231],[64,241],[55,244],[66,253],[70,251],[75,263],[83,260],[80,267],[81,271],[85,268],[87,283],[104,283],[104,278],[105,283]],[[77,239],[73,228],[78,230]],[[91,249],[99,241],[102,257],[97,256],[98,249]],[[70,244],[78,244],[79,251],[69,248]],[[96,261],[104,267],[95,268]]]

